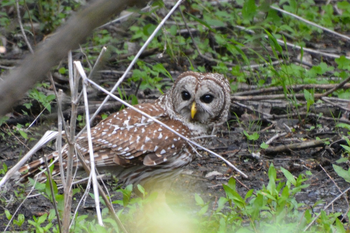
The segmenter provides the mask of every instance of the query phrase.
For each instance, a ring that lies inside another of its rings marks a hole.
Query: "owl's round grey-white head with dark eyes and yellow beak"
[[[165,94],[165,110],[185,124],[212,127],[226,121],[230,92],[229,81],[221,74],[184,72]]]

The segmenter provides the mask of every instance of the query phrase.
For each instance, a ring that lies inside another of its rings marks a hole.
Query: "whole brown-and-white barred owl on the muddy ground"
[[[147,114],[188,138],[203,145],[215,134],[218,126],[226,121],[230,104],[229,82],[219,74],[184,72],[174,86],[154,103],[135,105]],[[138,112],[126,108],[98,123],[91,129],[94,160],[98,170],[109,170],[125,183],[140,183],[150,177],[162,179],[181,172],[195,154],[193,148],[181,137],[155,123]],[[199,138],[198,138],[199,137]],[[86,133],[77,139],[78,150],[89,163],[89,148]],[[63,167],[67,157],[63,147]],[[54,152],[48,160],[57,158]],[[38,176],[44,169],[42,159],[23,166],[20,180]],[[74,165],[81,164],[74,156]],[[40,169],[39,169],[40,168]],[[52,175],[59,174],[58,161]]]

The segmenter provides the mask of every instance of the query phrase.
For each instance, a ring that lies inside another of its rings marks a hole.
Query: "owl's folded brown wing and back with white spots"
[[[183,136],[190,137],[189,129],[171,119],[156,104],[134,107],[155,117]],[[126,108],[100,122],[91,130],[96,166],[120,165],[130,167],[137,163],[153,166],[165,162],[169,156],[183,152],[187,143],[181,137],[138,112]],[[88,156],[86,136],[77,141],[77,148]]]

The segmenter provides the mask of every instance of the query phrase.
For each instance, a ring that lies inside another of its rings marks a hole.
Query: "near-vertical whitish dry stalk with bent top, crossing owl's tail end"
[[[87,139],[88,139],[87,142],[89,144],[89,155],[90,155],[90,166],[91,166],[90,176],[92,178],[92,188],[93,188],[93,194],[95,199],[98,224],[103,226],[102,215],[100,210],[100,200],[99,200],[99,194],[98,194],[98,188],[97,188],[96,172],[95,172],[95,161],[93,157],[93,148],[92,148],[92,141],[91,141],[91,129],[90,129],[90,121],[89,121],[89,103],[87,102],[87,93],[86,93],[87,77],[80,61],[74,61],[73,63],[77,68],[80,76],[83,78],[83,93],[84,93],[85,117],[86,117],[86,128],[87,128],[86,132],[87,132]]]

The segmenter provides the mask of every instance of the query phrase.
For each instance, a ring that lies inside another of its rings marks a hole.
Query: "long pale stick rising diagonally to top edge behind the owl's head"
[[[139,50],[139,52],[135,55],[134,59],[131,61],[130,65],[126,68],[124,74],[119,78],[118,82],[114,85],[114,87],[111,89],[111,93],[113,93],[117,87],[120,85],[121,82],[123,82],[123,80],[125,79],[126,75],[129,73],[129,71],[131,70],[131,68],[134,66],[134,64],[136,63],[136,60],[140,57],[141,53],[146,49],[146,47],[148,46],[148,44],[152,41],[152,39],[155,37],[155,35],[157,34],[157,32],[159,31],[159,29],[161,29],[161,27],[164,25],[165,21],[167,21],[167,19],[170,17],[170,15],[173,14],[173,12],[175,11],[175,9],[181,4],[183,0],[178,0],[176,2],[176,4],[173,6],[173,8],[169,11],[169,13],[164,17],[164,19],[158,24],[158,26],[154,29],[154,31],[152,32],[151,36],[148,37],[147,41],[145,42],[144,45],[142,45],[141,49]],[[99,113],[99,111],[101,110],[101,108],[103,107],[103,105],[109,100],[110,96],[106,96],[106,98],[103,100],[103,102],[101,103],[101,105],[98,107],[98,109],[94,112],[94,114],[92,115],[92,117],[90,117],[90,122],[96,117],[96,115]],[[85,130],[85,127],[77,134],[76,138],[78,138]]]

